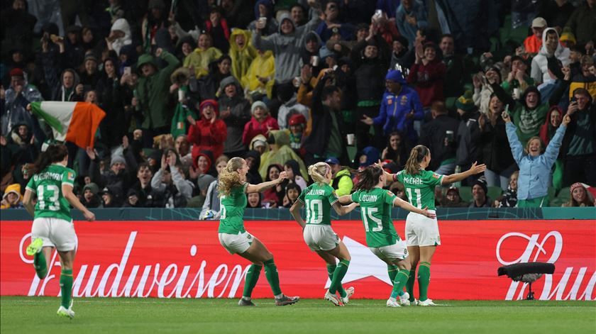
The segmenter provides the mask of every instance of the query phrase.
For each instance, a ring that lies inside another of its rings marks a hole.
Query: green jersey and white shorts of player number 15
[[[352,201],[360,204],[366,244],[381,260],[404,260],[408,256],[406,243],[395,232],[391,219],[396,198],[391,191],[379,187],[358,190],[351,195]]]

